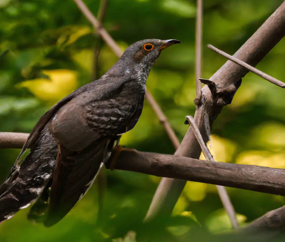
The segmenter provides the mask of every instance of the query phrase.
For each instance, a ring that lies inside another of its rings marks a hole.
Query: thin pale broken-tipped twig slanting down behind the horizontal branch
[[[203,141],[202,135],[199,131],[199,128],[197,127],[194,118],[192,116],[186,116],[186,119],[188,120],[200,146],[202,149],[202,152],[206,158],[207,161],[215,161],[213,158],[213,155],[211,154],[211,152],[209,151],[207,145],[205,144],[205,142]],[[224,186],[219,186],[216,185],[219,196],[221,198],[221,201],[223,203],[223,206],[225,207],[225,210],[231,220],[231,223],[233,225],[234,229],[238,229],[239,228],[239,223],[237,222],[237,217],[235,214],[235,208],[233,207],[233,204],[231,203],[231,200],[229,198],[229,195],[227,193],[227,190],[225,189]]]

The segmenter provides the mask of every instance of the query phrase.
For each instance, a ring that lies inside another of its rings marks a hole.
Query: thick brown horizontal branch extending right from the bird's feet
[[[285,196],[284,169],[139,151],[122,151],[114,169]]]

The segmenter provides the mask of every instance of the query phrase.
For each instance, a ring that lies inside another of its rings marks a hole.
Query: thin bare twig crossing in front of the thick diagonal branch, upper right
[[[273,83],[273,84],[275,84],[275,85],[277,85],[279,87],[285,88],[285,83],[284,82],[279,81],[278,79],[276,79],[276,78],[274,78],[274,77],[272,77],[272,76],[270,76],[270,75],[268,75],[268,74],[266,74],[266,73],[256,69],[255,67],[252,67],[251,65],[245,63],[244,61],[239,60],[238,58],[235,58],[235,57],[233,57],[233,56],[223,52],[222,50],[219,50],[218,48],[216,48],[216,47],[214,47],[214,46],[212,46],[210,44],[208,44],[207,47],[210,48],[211,50],[217,52],[221,56],[223,56],[223,57],[233,61],[234,63],[247,68],[249,71],[257,74],[258,76],[264,78],[265,80],[267,80],[267,81],[269,81],[269,82],[271,82],[271,83]]]

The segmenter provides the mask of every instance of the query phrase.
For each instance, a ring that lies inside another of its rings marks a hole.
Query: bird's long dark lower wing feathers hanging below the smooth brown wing
[[[60,221],[92,185],[106,157],[107,137],[100,138],[83,152],[70,152],[59,145],[50,200],[44,225]]]

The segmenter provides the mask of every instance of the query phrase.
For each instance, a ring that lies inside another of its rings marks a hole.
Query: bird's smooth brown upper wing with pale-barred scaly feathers
[[[112,82],[111,82],[112,80]],[[102,135],[120,134],[120,129],[135,112],[135,100],[122,93],[133,79],[98,80],[60,107],[48,127],[56,141],[69,151],[82,151]],[[119,132],[119,133],[118,133]],[[121,132],[121,133],[124,133]]]

